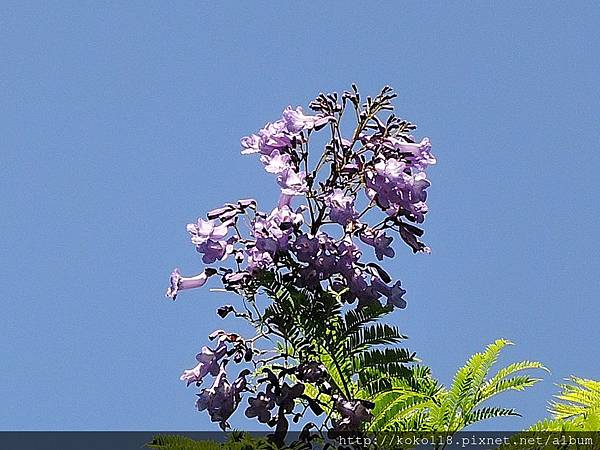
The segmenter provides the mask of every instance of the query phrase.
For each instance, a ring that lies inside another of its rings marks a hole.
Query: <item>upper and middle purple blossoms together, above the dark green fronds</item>
[[[300,107],[288,107],[279,120],[241,140],[242,153],[258,153],[265,170],[277,176],[281,190],[278,205],[267,214],[257,210],[254,200],[240,200],[209,212],[207,220],[189,224],[191,241],[205,264],[224,263],[234,255],[234,268],[207,268],[191,278],[181,277],[176,269],[171,275],[169,297],[202,286],[218,270],[226,287],[247,282],[263,271],[279,271],[294,275],[298,286],[343,292],[346,301],[358,299],[361,306],[382,296],[387,304],[405,306],[405,291],[399,283],[388,285],[390,280],[373,270],[378,266],[360,261],[363,252],[357,241],[372,247],[379,261],[395,256],[393,237],[386,229],[398,231],[414,251],[429,250],[418,239],[421,230],[402,221],[421,223],[427,212],[430,182],[425,169],[436,162],[429,139],[415,143],[409,135],[391,135],[378,119],[376,131],[369,133],[365,128],[354,140],[334,134],[326,148],[333,167],[329,178],[315,189],[319,167],[310,180],[300,167],[307,158],[305,145],[310,133],[328,123],[335,123],[331,114],[306,115]],[[354,150],[357,144],[359,148]],[[362,186],[369,200],[362,212],[357,186]],[[294,210],[292,200],[298,196],[305,196],[305,202]],[[373,207],[387,217],[377,226],[369,226],[362,219]],[[334,238],[326,232],[323,227],[327,220],[340,225],[343,236]]]

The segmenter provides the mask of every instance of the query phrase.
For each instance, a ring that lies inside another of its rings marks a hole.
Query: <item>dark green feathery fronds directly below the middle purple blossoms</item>
[[[273,303],[264,317],[294,359],[317,359],[345,398],[370,398],[368,386],[390,375],[410,376],[414,353],[390,347],[406,339],[397,327],[376,323],[392,311],[372,305],[342,310],[335,293],[298,289],[281,278],[267,283]]]

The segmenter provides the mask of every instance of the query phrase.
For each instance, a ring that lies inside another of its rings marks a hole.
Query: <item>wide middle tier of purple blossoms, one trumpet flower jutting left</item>
[[[352,202],[342,197],[337,200],[337,205],[338,210],[346,211],[340,213],[340,217],[343,215],[347,218],[346,222],[353,220],[355,213],[352,212]],[[248,216],[246,212],[244,211],[245,217]],[[199,235],[202,236],[201,245],[210,243],[209,247],[203,247],[203,260],[208,259],[206,248],[223,249],[216,255],[210,254],[211,261],[224,261],[228,255],[235,255],[238,270],[232,273],[231,270],[221,269],[225,273],[223,281],[226,286],[232,281],[248,281],[264,270],[275,270],[293,276],[295,284],[301,287],[330,288],[336,292],[344,292],[343,298],[350,303],[359,299],[359,304],[364,306],[385,296],[387,304],[399,308],[405,306],[401,299],[405,291],[399,288],[399,284],[387,286],[381,280],[381,268],[374,263],[360,261],[362,251],[351,234],[335,239],[325,231],[314,235],[304,231],[304,212],[303,208],[294,211],[289,206],[275,208],[270,214],[255,212],[249,221],[248,237],[237,234],[240,230],[236,225],[238,218],[230,218],[228,210],[223,212],[227,217],[223,225],[215,226],[199,220],[200,225],[188,225],[188,231],[193,243],[200,242]],[[232,235],[228,237],[230,231]],[[379,260],[384,256],[394,256],[394,250],[390,247],[393,238],[384,231],[365,227],[357,234],[363,243],[374,249]],[[175,298],[182,289],[200,287],[210,274],[215,273],[217,269],[207,268],[196,277],[183,278],[176,269],[171,275],[171,287],[167,295]]]

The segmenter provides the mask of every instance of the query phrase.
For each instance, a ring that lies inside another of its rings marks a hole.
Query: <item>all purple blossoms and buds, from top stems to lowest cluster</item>
[[[242,138],[242,154],[258,154],[265,171],[275,175],[277,205],[264,212],[253,199],[239,200],[188,224],[191,242],[207,266],[193,277],[174,269],[168,297],[174,300],[180,291],[201,287],[217,275],[225,289],[254,301],[261,288],[267,287],[265,280],[279,277],[299,292],[335,295],[348,304],[356,303],[357,308],[380,307],[382,302],[390,310],[406,307],[406,291],[379,262],[395,257],[394,236],[414,252],[429,251],[419,239],[423,230],[414,224],[425,219],[430,186],[425,171],[436,160],[427,138],[417,143],[408,134],[414,129],[410,123],[394,115],[386,121],[377,116],[391,109],[385,96],[379,100],[379,109],[371,100],[360,107],[357,98],[344,97],[340,105],[337,96],[321,95],[311,103],[315,115],[287,107],[280,119]],[[343,137],[340,119],[348,101],[355,105],[358,124],[352,137]],[[322,154],[309,162],[309,140],[325,127],[330,140]],[[234,311],[226,305],[218,314],[225,317]],[[252,312],[239,316],[248,319]],[[261,333],[263,325],[257,326]],[[197,364],[185,370],[181,380],[200,386],[207,376],[214,377],[213,384],[198,394],[196,406],[225,429],[242,393],[251,390],[246,379],[249,371],[241,371],[230,382],[226,366],[231,359],[253,361],[260,352],[253,348],[253,340],[237,334],[218,330],[210,338],[216,339],[216,345],[203,347],[196,355]],[[285,428],[283,416],[293,413],[299,399],[318,415],[320,407],[304,395],[303,383],[324,386],[327,379],[325,367],[317,361],[281,369],[278,375],[265,369],[268,376],[259,382],[267,380],[268,386],[260,392],[253,390],[256,394],[245,412],[277,428]],[[295,377],[294,384],[284,381],[286,374]],[[356,430],[371,419],[369,402],[352,399],[347,392],[330,398],[336,429]],[[279,412],[273,415],[275,409]]]

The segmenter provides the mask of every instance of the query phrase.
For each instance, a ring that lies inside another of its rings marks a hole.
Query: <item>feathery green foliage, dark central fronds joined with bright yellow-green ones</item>
[[[533,386],[539,379],[527,371],[545,370],[539,362],[520,361],[490,376],[501,351],[511,345],[500,339],[474,354],[446,388],[428,367],[414,365],[414,353],[395,346],[406,337],[397,327],[379,323],[390,309],[375,305],[344,312],[332,293],[299,290],[277,279],[269,286],[274,302],[266,317],[289,342],[292,357],[317,358],[340,394],[373,401],[369,431],[453,433],[483,420],[517,416],[515,409],[483,404]],[[317,396],[316,390],[307,392]],[[572,407],[557,408],[573,412]]]

